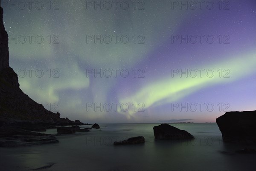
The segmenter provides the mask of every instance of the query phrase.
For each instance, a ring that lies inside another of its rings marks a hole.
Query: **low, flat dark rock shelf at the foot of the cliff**
[[[0,121],[3,119],[1,118]],[[1,122],[0,125],[0,147],[18,147],[18,146],[31,146],[31,145],[42,145],[47,143],[58,143],[56,135],[45,134],[47,129],[58,129],[59,126],[65,127],[70,126],[64,123],[45,123],[45,122],[35,122],[35,121],[16,121],[11,120],[11,122]],[[78,125],[90,125],[84,124],[80,121],[72,123],[72,128]],[[80,128],[79,128],[80,129]],[[87,129],[86,129],[87,130]],[[33,132],[35,131],[35,132]],[[81,132],[83,131],[81,129]],[[58,134],[61,135],[61,134]]]

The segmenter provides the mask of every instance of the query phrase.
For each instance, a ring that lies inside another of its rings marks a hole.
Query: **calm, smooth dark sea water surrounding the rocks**
[[[55,164],[44,170],[256,169],[256,155],[238,154],[235,151],[245,146],[223,143],[216,123],[170,124],[194,135],[189,141],[154,140],[157,125],[100,124],[101,130],[58,136],[57,144],[0,148],[0,170],[32,170],[48,163]],[[55,134],[56,129],[47,133]],[[116,140],[134,136],[144,136],[145,144],[113,146]]]

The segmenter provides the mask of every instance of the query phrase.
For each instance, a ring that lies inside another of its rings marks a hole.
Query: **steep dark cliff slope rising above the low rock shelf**
[[[0,125],[44,123],[45,125],[79,125],[80,121],[60,118],[36,103],[20,90],[17,74],[9,66],[8,34],[3,25],[3,8],[0,8]]]

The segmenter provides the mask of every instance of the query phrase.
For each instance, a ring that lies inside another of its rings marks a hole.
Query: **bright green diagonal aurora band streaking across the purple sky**
[[[141,103],[145,105],[143,109],[149,108],[153,105],[159,106],[180,100],[201,89],[202,87],[236,81],[243,76],[248,76],[255,73],[255,60],[255,55],[252,52],[242,57],[237,56],[236,58],[229,58],[229,60],[210,64],[206,67],[197,67],[198,69],[205,68],[205,70],[202,71],[202,78],[200,77],[200,74],[198,74],[195,78],[189,76],[186,78],[184,74],[182,77],[177,74],[172,78],[170,75],[170,77],[167,79],[165,78],[161,81],[148,84],[129,97],[122,98],[120,96],[120,104],[127,103],[129,107],[132,104],[135,104],[136,108],[129,108],[125,112],[119,108],[118,112],[127,115],[127,118],[131,118],[131,116],[134,115],[138,109],[142,108]],[[227,64],[229,64],[228,68]],[[223,78],[223,70],[226,68],[230,70],[230,73],[228,74],[229,77]],[[208,76],[205,74],[207,69],[212,69],[215,72],[211,78],[211,72],[208,73]],[[222,69],[221,78],[220,73],[216,72],[219,69]],[[124,108],[123,110],[126,109]]]

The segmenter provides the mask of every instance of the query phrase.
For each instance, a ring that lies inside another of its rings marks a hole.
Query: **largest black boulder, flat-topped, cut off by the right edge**
[[[224,142],[256,144],[256,111],[226,112],[216,123]]]

